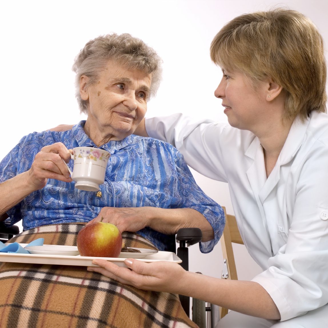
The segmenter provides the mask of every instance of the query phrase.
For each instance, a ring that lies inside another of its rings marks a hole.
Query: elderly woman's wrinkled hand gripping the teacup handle
[[[68,162],[71,154],[61,142],[45,146],[36,154],[30,170],[27,171],[28,183],[34,190],[42,189],[48,179],[72,182],[62,158]]]

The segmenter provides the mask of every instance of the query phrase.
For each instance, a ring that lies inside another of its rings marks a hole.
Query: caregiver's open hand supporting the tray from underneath
[[[98,267],[88,267],[88,271],[101,273],[139,289],[175,294],[179,294],[187,274],[179,264],[167,261],[146,263],[129,258],[124,260],[124,263],[128,268],[119,267],[106,260],[95,259],[92,264]]]

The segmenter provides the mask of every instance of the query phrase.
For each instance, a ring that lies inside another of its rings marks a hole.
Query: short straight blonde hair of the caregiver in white
[[[265,76],[282,86],[283,119],[326,112],[323,39],[303,14],[277,8],[240,15],[215,35],[210,52],[214,63],[244,73],[255,86]]]

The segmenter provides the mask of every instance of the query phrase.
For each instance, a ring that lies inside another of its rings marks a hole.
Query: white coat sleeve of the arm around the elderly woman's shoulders
[[[220,144],[226,124],[195,121],[181,113],[147,118],[145,124],[149,136],[172,144],[190,167],[211,179],[227,182]]]

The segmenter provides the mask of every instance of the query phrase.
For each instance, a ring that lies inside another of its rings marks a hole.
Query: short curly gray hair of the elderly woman
[[[80,77],[89,77],[89,87],[96,82],[109,59],[128,68],[152,74],[149,99],[156,95],[162,79],[162,60],[154,49],[128,33],[106,34],[90,40],[74,60],[72,70],[76,73],[75,96],[81,113],[87,114],[87,102],[80,96]]]

